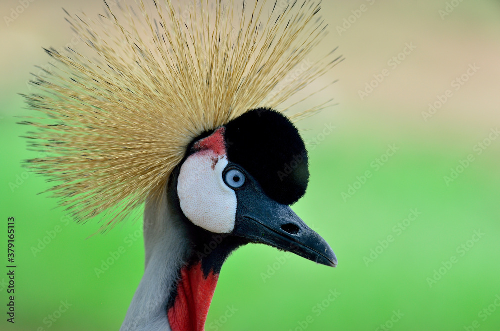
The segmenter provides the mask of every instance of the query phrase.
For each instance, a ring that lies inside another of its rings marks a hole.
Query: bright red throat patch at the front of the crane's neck
[[[168,309],[168,321],[172,331],[203,331],[212,301],[218,274],[210,271],[205,279],[201,262],[180,270],[177,297]]]

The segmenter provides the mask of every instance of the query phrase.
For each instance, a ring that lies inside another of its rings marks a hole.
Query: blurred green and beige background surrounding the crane
[[[41,47],[73,38],[61,7],[92,17],[103,4],[25,1],[5,19],[21,2],[0,2],[0,329],[117,330],[143,272],[141,224],[90,237],[97,221],[74,224],[37,195],[48,185],[20,166],[37,155],[14,118],[28,113],[16,93],[29,92],[29,72],[48,62]],[[330,33],[322,46],[339,45],[346,60],[310,86],[340,79],[319,96],[339,104],[299,123],[305,140],[322,141],[309,146],[311,182],[294,210],[330,243],[339,266],[243,247],[222,268],[206,329],[499,330],[500,139],[488,135],[500,127],[500,2],[324,1],[323,10]],[[334,129],[323,137],[325,124]],[[389,145],[398,148],[391,156]],[[452,169],[461,173],[446,181]],[[417,217],[405,220],[412,211]],[[12,216],[14,325],[5,314]],[[120,246],[125,253],[97,277]],[[59,314],[61,301],[70,306]]]

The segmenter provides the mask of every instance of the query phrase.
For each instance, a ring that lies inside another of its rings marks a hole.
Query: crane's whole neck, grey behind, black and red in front
[[[146,202],[145,271],[120,331],[202,331],[222,264],[243,244],[189,222],[173,193]]]

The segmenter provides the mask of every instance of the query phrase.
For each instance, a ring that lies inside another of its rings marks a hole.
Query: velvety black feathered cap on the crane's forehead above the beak
[[[307,189],[307,150],[293,123],[269,108],[252,109],[225,125],[227,157],[276,202],[293,204]]]

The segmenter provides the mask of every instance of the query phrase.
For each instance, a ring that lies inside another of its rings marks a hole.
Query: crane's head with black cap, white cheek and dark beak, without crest
[[[191,143],[176,192],[185,217],[206,231],[334,267],[331,247],[290,208],[308,180],[307,151],[296,127],[281,113],[258,108]]]

